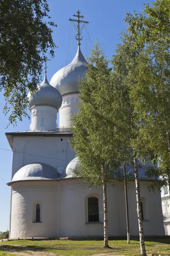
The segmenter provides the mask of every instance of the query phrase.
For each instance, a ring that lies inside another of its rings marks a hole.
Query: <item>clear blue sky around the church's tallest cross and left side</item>
[[[126,24],[123,22],[125,14],[127,12],[133,13],[141,12],[143,9],[143,3],[152,3],[151,0],[49,0],[49,8],[51,9],[50,16],[52,20],[57,24],[57,28],[53,33],[53,38],[58,46],[55,50],[55,58],[48,61],[48,81],[54,73],[60,68],[64,67],[67,60],[67,64],[74,58],[77,51],[77,41],[74,39],[76,32],[72,26],[71,40],[68,42],[70,35],[70,21],[68,19],[72,17],[78,9],[80,9],[81,15],[90,23],[88,26],[88,33],[90,36],[91,44],[93,45],[97,39],[104,49],[105,55],[108,58],[114,53],[116,44],[119,43],[119,31],[126,29]],[[86,33],[85,29],[82,32],[83,41],[81,45],[82,53],[86,55]],[[91,44],[87,34],[87,55]],[[24,131],[29,130],[30,120],[23,119],[23,122],[17,122],[16,127],[6,128],[8,124],[8,117],[3,114],[3,106],[5,102],[2,93],[0,94],[0,148],[10,150],[8,141],[5,136],[5,132],[11,131]],[[10,212],[10,187],[6,185],[11,181],[11,166],[12,166],[12,152],[4,151],[0,149],[0,231],[5,231],[7,225],[9,227],[9,212]]]

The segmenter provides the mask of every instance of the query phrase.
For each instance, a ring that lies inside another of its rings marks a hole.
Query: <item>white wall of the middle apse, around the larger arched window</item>
[[[88,183],[70,180],[60,185],[60,236],[103,236],[103,193],[102,188],[89,189]],[[108,187],[108,233],[121,236],[119,219],[119,189]],[[99,201],[99,221],[88,223],[88,197]]]

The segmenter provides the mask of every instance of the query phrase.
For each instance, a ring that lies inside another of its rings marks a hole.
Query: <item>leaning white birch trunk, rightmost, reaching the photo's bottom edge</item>
[[[139,178],[138,178],[138,160],[136,159],[136,157],[134,157],[134,167],[135,167],[137,214],[138,214],[138,224],[139,224],[139,242],[140,242],[140,248],[141,248],[141,255],[146,256],[146,249],[144,245],[144,230],[143,230],[143,220],[142,220],[140,186],[139,186]]]

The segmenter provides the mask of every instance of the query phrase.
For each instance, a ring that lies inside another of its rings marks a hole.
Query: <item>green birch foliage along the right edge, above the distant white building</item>
[[[125,20],[137,52],[127,77],[139,129],[136,151],[159,162],[155,176],[170,184],[170,0],[156,0]]]

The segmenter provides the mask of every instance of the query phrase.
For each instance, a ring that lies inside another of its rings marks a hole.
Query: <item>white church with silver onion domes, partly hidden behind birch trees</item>
[[[82,17],[77,12],[78,19]],[[79,24],[79,23],[78,23]],[[84,76],[87,61],[80,43],[73,61],[38,93],[28,95],[31,125],[27,131],[8,132],[13,150],[9,238],[103,236],[102,188],[74,177],[79,165],[68,140],[71,113],[77,112],[78,79]],[[59,112],[59,126],[57,113]],[[133,170],[131,167],[130,171]],[[163,236],[164,224],[160,192],[148,192],[151,180],[139,168],[144,235]],[[108,186],[108,235],[126,236],[124,183]],[[135,181],[127,185],[130,235],[139,236]]]

